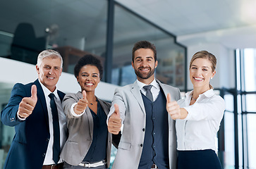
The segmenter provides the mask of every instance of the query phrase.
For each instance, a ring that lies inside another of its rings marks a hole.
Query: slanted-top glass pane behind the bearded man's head
[[[112,83],[123,86],[135,82],[132,49],[140,40],[150,41],[157,47],[157,79],[184,91],[185,48],[176,44],[175,37],[168,32],[152,26],[122,6],[115,6]]]

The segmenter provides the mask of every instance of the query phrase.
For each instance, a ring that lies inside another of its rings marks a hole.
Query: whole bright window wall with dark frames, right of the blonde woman
[[[256,168],[256,49],[237,49],[236,89],[226,90],[225,168]]]

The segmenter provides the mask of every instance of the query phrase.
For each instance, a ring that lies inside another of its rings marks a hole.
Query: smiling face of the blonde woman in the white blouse
[[[216,71],[212,71],[212,63],[207,58],[196,58],[190,66],[190,80],[194,89],[207,91],[209,80],[214,77]]]

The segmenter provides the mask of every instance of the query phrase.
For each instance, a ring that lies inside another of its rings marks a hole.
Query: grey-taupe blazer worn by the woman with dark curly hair
[[[75,117],[71,114],[71,106],[77,103],[81,98],[83,98],[81,92],[77,92],[76,94],[66,94],[62,104],[67,117],[69,136],[61,151],[61,158],[70,165],[78,165],[81,163],[92,144],[93,118],[90,108],[87,106],[85,113],[80,117]],[[101,99],[98,99],[98,101],[107,115],[111,105]],[[119,137],[120,139],[120,135],[116,135],[116,137]],[[109,132],[107,139],[106,162],[109,167],[112,143],[112,134]],[[114,140],[117,145],[119,139],[117,138]]]

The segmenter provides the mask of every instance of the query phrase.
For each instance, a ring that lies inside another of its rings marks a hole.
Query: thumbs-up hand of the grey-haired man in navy
[[[32,113],[37,104],[37,87],[35,84],[31,87],[31,96],[24,97],[19,104],[18,107],[18,116],[20,118],[28,118],[28,116]]]

